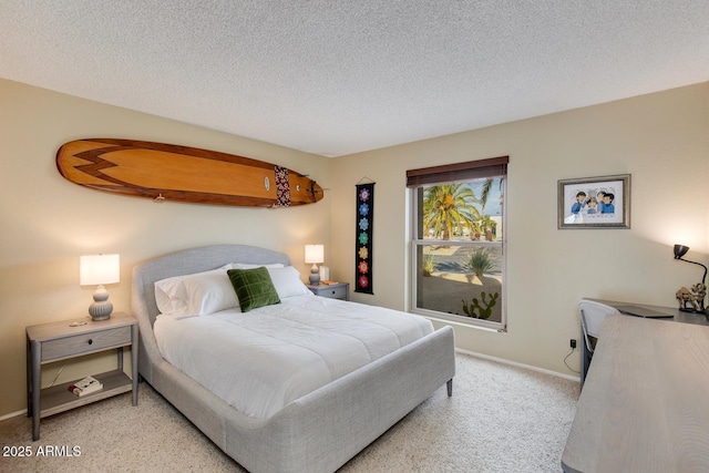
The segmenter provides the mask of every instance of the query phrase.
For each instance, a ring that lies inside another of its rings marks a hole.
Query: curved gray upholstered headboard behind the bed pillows
[[[218,268],[227,263],[290,265],[287,255],[248,245],[214,245],[191,248],[151,259],[133,268],[131,306],[133,315],[147,315],[151,326],[158,315],[155,281]]]

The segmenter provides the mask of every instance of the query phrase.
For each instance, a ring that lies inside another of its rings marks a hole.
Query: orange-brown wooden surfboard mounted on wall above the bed
[[[56,152],[56,168],[81,186],[156,202],[289,207],[322,198],[315,181],[286,167],[163,143],[71,141]]]

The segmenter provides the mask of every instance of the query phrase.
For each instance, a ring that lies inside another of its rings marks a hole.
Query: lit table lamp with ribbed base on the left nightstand
[[[113,304],[109,302],[109,291],[104,284],[121,280],[121,261],[119,255],[88,255],[80,257],[79,284],[95,286],[93,304],[89,306],[89,313],[93,320],[105,320],[111,317]]]

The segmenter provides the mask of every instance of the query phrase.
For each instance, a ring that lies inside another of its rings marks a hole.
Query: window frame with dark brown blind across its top
[[[462,323],[471,327],[485,328],[496,330],[499,332],[507,331],[507,284],[506,284],[506,251],[507,243],[507,163],[508,156],[493,157],[489,160],[479,160],[465,163],[455,163],[443,166],[433,166],[419,169],[407,171],[407,187],[410,196],[410,251],[409,251],[409,311],[419,313],[433,319],[442,319],[451,322]],[[429,187],[436,184],[464,183],[480,178],[502,178],[502,239],[500,241],[473,241],[473,240],[443,240],[443,239],[425,239],[419,238],[419,226],[423,216],[423,193],[419,192],[422,187]],[[441,312],[431,309],[424,309],[418,306],[419,294],[419,267],[422,261],[423,247],[432,245],[448,245],[460,247],[499,247],[502,253],[501,275],[501,321],[489,321],[465,316]]]

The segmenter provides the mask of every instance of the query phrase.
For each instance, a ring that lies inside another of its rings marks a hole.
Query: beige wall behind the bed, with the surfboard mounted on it
[[[126,137],[239,154],[309,174],[323,187],[330,160],[0,80],[0,417],[25,407],[24,328],[82,317],[92,288],[79,286],[79,256],[121,255],[114,310],[130,311],[132,267],[156,255],[222,243],[287,253],[307,275],[304,245],[329,245],[330,197],[284,209],[163,203],[100,193],[65,181],[59,146]],[[92,363],[112,364],[111,357]],[[48,366],[44,383],[63,363]],[[68,363],[58,382],[89,374]],[[106,368],[106,369],[112,369]]]

